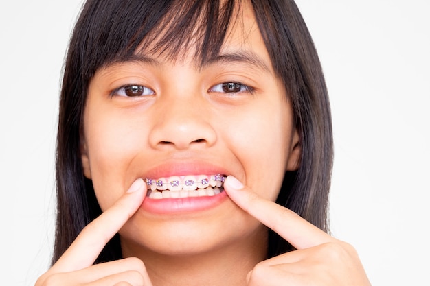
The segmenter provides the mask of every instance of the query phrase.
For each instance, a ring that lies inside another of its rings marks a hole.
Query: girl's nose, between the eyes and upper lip
[[[213,145],[216,132],[205,106],[205,99],[199,96],[160,99],[157,115],[152,117],[155,124],[149,134],[151,147],[186,150]]]

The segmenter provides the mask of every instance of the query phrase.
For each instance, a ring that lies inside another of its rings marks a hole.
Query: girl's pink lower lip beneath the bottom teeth
[[[225,193],[225,191],[218,195],[207,197],[166,199],[145,198],[142,208],[144,211],[156,214],[195,213],[214,208],[221,204],[225,199],[227,199],[227,193]]]

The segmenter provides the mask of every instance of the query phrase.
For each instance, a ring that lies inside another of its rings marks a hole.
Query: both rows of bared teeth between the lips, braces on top
[[[148,194],[152,199],[189,198],[214,196],[224,191],[223,184],[227,176],[199,175],[172,176],[168,178],[146,178]]]

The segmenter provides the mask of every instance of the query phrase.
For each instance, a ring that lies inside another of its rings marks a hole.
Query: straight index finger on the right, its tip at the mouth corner
[[[271,228],[297,249],[310,248],[334,241],[323,230],[303,219],[297,213],[261,198],[249,187],[244,187],[233,176],[228,176],[224,189],[240,208]]]

